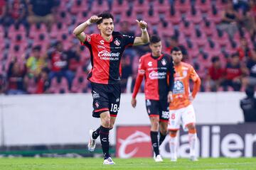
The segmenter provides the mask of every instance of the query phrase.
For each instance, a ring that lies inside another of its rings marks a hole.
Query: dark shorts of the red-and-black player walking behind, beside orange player
[[[146,99],[146,111],[149,117],[159,116],[161,122],[169,121],[169,103],[167,100],[150,100]]]

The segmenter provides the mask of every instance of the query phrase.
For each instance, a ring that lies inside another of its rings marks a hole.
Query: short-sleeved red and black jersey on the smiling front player
[[[100,34],[86,35],[85,45],[90,50],[92,69],[88,79],[98,84],[118,84],[121,78],[120,60],[125,47],[133,45],[134,37],[113,32],[110,42]]]

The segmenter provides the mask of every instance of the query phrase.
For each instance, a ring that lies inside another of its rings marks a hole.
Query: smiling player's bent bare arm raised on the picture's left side
[[[81,41],[85,42],[86,34],[83,32],[87,26],[90,26],[92,23],[96,23],[97,21],[101,20],[102,17],[91,16],[90,19],[81,23],[73,30],[73,34]]]

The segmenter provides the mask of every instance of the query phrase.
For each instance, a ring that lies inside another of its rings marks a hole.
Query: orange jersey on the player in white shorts
[[[201,82],[191,64],[181,62],[181,64],[174,66],[174,69],[176,73],[174,74],[173,101],[170,103],[170,110],[184,108],[191,104],[189,100],[189,96],[191,95],[189,79],[192,79],[194,82],[199,79],[199,86]],[[198,88],[193,89],[193,94],[196,95],[197,91]]]

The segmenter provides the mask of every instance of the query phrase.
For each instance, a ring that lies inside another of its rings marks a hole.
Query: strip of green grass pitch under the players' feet
[[[78,169],[203,169],[203,170],[250,170],[256,169],[256,158],[218,158],[218,159],[199,159],[198,162],[191,162],[188,159],[178,159],[178,162],[156,163],[150,158],[135,159],[113,159],[116,164],[103,165],[100,158],[0,158],[1,170],[13,169],[59,169],[59,170],[78,170]]]

